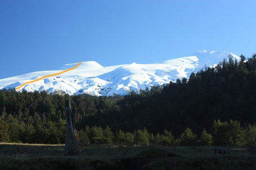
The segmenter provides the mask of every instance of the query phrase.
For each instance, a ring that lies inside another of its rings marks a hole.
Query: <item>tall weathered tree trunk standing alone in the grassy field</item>
[[[67,119],[67,135],[66,135],[66,141],[65,141],[64,155],[65,156],[70,156],[70,155],[81,156],[82,155],[81,147],[77,140],[76,134],[74,133],[74,120],[72,121],[72,118],[74,119],[74,116],[73,116],[69,101],[66,101],[65,115]]]

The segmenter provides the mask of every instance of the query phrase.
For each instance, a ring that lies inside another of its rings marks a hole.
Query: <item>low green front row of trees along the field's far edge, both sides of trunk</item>
[[[43,144],[63,144],[65,141],[64,122],[49,123],[46,127],[34,127],[32,124],[15,124],[5,122],[0,118],[0,138],[1,142],[23,142],[23,143],[43,143]],[[174,135],[165,129],[164,133],[149,133],[146,128],[137,131],[124,132],[121,129],[112,132],[108,126],[88,127],[76,131],[76,135],[82,145],[162,145],[162,146],[249,146],[251,149],[256,147],[256,124],[249,124],[243,128],[240,122],[229,120],[220,122],[214,120],[213,134],[204,128],[197,136],[192,129],[186,128],[184,132],[175,138]]]

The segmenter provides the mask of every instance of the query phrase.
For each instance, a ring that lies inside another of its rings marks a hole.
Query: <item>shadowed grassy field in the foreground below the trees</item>
[[[64,156],[64,145],[0,143],[1,169],[256,169],[256,155],[242,147],[214,154],[213,147],[82,146]]]

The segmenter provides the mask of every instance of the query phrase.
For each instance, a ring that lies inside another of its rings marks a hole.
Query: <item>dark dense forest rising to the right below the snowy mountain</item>
[[[240,57],[240,62],[229,56],[215,68],[192,73],[189,79],[126,96],[61,96],[45,91],[0,90],[0,142],[64,143],[65,100],[71,102],[80,136],[86,127],[109,127],[114,136],[120,130],[135,135],[145,128],[154,137],[171,132],[174,143],[180,144],[179,138],[187,129],[198,138],[205,129],[213,136],[214,144],[220,145],[225,140],[214,139],[214,120],[224,124],[236,120],[244,127],[246,136],[246,129],[256,122],[256,55],[247,60]],[[90,144],[94,143],[88,137]]]

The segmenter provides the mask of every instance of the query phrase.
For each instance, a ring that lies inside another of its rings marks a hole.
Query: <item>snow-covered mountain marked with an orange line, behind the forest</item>
[[[155,64],[132,63],[103,67],[95,61],[85,61],[81,62],[76,69],[25,84],[17,91],[46,91],[68,93],[69,95],[87,93],[95,96],[126,95],[130,91],[138,92],[140,89],[145,90],[146,87],[150,89],[151,86],[158,84],[175,82],[178,78],[188,78],[193,71],[196,73],[205,66],[214,66],[228,55],[240,60],[240,57],[231,52],[206,52],[203,50],[193,53],[191,56]],[[21,84],[40,79],[45,75],[73,68],[77,64],[66,64],[59,70],[37,71],[0,79],[0,89],[19,87]]]

